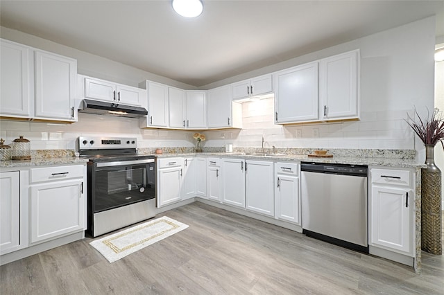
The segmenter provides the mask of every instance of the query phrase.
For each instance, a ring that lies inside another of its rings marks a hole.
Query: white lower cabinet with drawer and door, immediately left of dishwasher
[[[275,163],[275,218],[300,225],[298,164]]]

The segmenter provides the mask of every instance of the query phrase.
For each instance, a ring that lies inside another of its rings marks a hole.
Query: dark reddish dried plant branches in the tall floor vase
[[[427,109],[427,118],[422,120],[416,111],[416,117],[418,117],[418,122],[411,118],[409,114],[407,114],[407,124],[413,129],[413,132],[418,135],[421,139],[422,143],[425,145],[436,145],[436,143],[441,142],[441,145],[444,149],[443,139],[444,139],[444,117],[439,111],[439,109],[434,109],[432,116],[430,116],[430,112]]]

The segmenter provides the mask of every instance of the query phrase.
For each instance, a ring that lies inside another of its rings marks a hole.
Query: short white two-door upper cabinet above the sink
[[[261,75],[259,77],[244,80],[232,84],[233,100],[261,96],[273,92],[273,75]]]

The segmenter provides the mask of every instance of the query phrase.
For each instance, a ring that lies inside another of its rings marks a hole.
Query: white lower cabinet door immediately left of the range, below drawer
[[[83,231],[85,202],[82,180],[31,186],[31,242]]]

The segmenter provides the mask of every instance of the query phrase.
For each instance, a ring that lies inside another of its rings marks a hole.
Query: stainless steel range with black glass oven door
[[[96,237],[154,217],[155,157],[137,155],[137,138],[78,138],[87,163],[87,233]]]

